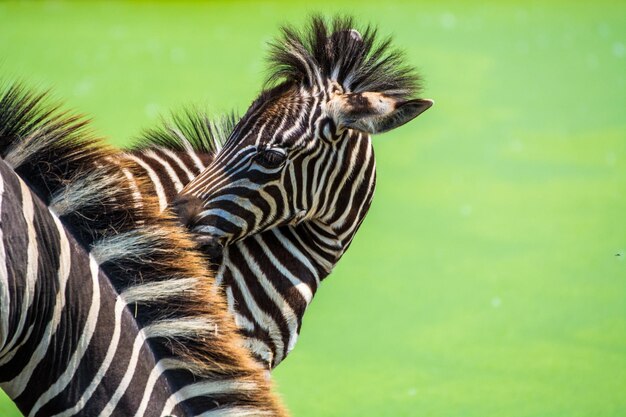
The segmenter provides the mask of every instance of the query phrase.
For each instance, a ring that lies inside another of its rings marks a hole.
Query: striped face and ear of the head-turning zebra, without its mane
[[[332,81],[281,84],[261,94],[211,165],[183,189],[181,219],[203,243],[219,246],[303,221],[341,227],[369,206],[369,134],[400,126],[431,104],[346,93]]]

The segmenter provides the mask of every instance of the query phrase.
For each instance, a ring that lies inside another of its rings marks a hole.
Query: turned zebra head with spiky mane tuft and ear
[[[419,78],[389,39],[353,27],[314,17],[271,45],[270,87],[175,203],[205,245],[305,221],[351,238],[374,189],[370,135],[433,104],[415,98]]]

